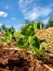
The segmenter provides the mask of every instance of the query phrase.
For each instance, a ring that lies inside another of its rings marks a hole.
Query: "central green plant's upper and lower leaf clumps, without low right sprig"
[[[19,46],[22,45],[22,46],[27,47],[27,48],[30,48],[32,46],[38,47],[39,46],[38,38],[35,36],[36,31],[37,31],[37,23],[36,22],[25,25],[21,31],[21,34],[24,37],[18,38],[18,45]],[[36,39],[37,39],[37,42],[36,42]]]

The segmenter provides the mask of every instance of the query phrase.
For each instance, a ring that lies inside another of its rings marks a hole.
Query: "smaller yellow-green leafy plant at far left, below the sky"
[[[14,27],[5,27],[5,31],[3,32],[4,38],[1,38],[0,40],[11,43],[14,37],[14,33],[15,33]]]

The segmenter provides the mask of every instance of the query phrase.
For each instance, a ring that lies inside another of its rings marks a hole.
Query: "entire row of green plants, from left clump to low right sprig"
[[[48,44],[41,46],[41,43],[45,39],[38,39],[36,35],[37,26],[38,23],[32,22],[22,26],[18,32],[15,32],[14,27],[2,28],[4,38],[0,38],[0,42],[9,43],[12,46],[12,40],[14,40],[18,48],[29,50],[32,55],[37,55],[38,57],[44,57]]]

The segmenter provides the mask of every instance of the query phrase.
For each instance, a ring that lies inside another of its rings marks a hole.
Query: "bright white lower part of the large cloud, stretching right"
[[[35,8],[30,12],[26,13],[25,17],[28,20],[36,20],[38,17],[48,16],[51,12],[50,8]],[[27,15],[28,14],[28,15]]]

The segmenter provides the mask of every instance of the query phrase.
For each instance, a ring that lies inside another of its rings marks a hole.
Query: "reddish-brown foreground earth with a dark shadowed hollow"
[[[0,50],[0,71],[53,71],[26,50]]]

